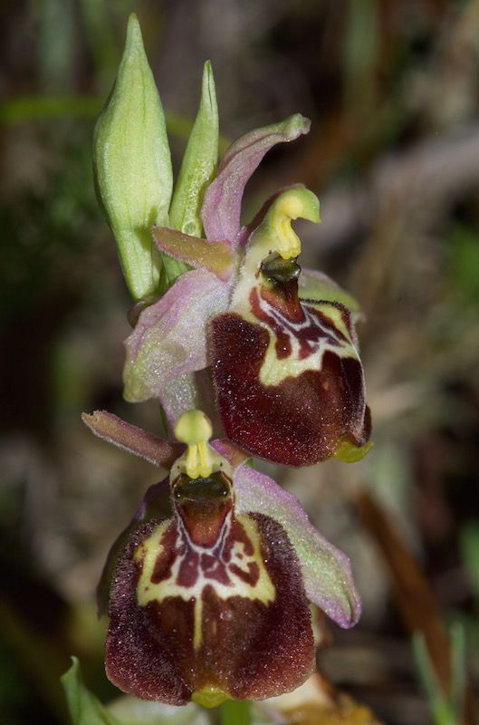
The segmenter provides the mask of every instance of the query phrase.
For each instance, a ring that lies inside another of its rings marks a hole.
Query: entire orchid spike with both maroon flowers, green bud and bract
[[[309,126],[296,114],[247,133],[217,166],[206,62],[173,185],[161,102],[130,17],[95,130],[95,179],[137,303],[124,394],[157,399],[171,440],[107,412],[84,420],[169,469],[112,546],[98,590],[110,618],[108,676],[142,699],[213,706],[292,691],[314,667],[311,605],[343,627],[359,617],[347,557],[248,463],[250,454],[292,466],[354,460],[369,449],[357,304],[297,261],[292,220],[318,223],[318,199],[283,189],[240,227],[244,187],[264,154]],[[209,443],[199,409],[225,438]]]

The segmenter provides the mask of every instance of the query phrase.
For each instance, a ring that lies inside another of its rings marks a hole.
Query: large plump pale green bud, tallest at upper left
[[[135,300],[158,295],[161,256],[150,228],[168,226],[173,174],[165,116],[136,15],[93,140],[95,182]]]

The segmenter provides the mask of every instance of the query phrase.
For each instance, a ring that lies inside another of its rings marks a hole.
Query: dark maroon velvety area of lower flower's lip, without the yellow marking
[[[234,698],[263,699],[292,690],[306,679],[314,662],[314,644],[298,559],[283,527],[269,517],[252,518],[274,600],[263,604],[242,596],[221,599],[213,586],[206,585],[203,642],[197,652],[193,601],[167,597],[139,606],[140,565],[133,552],[155,529],[154,522],[132,538],[117,566],[106,645],[107,673],[121,690],[182,705],[205,687],[216,687]],[[234,520],[226,548],[244,535],[241,521]],[[176,556],[175,522],[164,537],[168,556],[155,568],[155,580],[168,575]]]

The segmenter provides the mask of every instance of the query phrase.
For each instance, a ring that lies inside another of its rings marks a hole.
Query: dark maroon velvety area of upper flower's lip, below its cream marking
[[[321,371],[264,386],[269,334],[240,314],[211,323],[216,395],[226,435],[255,455],[289,466],[327,459],[339,441],[362,445],[370,422],[360,362],[324,353]]]

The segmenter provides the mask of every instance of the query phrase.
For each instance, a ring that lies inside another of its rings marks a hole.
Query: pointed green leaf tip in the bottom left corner
[[[60,678],[65,693],[72,725],[121,725],[85,687],[80,664],[72,657],[72,667]]]

